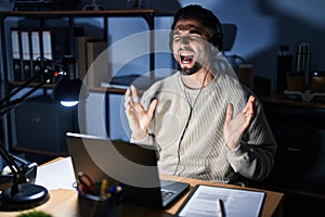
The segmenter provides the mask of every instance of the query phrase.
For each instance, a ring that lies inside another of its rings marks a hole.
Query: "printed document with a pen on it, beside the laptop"
[[[183,217],[255,217],[259,216],[264,192],[197,184],[183,203]]]

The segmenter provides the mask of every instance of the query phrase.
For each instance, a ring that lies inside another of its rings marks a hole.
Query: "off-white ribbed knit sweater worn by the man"
[[[236,79],[217,74],[199,93],[185,129],[191,111],[188,95],[193,103],[198,92],[185,91],[180,73],[154,84],[141,99],[146,108],[153,98],[158,99],[150,133],[144,140],[132,142],[156,145],[161,174],[238,184],[268,177],[274,164],[276,142],[259,100],[240,146],[231,151],[223,138],[226,106],[234,105],[235,116],[251,92],[244,91]]]

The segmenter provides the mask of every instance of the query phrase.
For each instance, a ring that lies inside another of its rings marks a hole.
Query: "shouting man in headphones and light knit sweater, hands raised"
[[[157,149],[162,174],[237,184],[268,177],[276,142],[258,99],[216,67],[219,20],[200,5],[180,9],[170,47],[180,71],[141,102],[135,87],[126,92],[131,141]]]

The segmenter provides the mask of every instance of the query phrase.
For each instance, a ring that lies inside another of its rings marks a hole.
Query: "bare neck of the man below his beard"
[[[208,86],[213,77],[213,74],[205,67],[193,75],[181,75],[183,84],[191,89],[200,89]]]

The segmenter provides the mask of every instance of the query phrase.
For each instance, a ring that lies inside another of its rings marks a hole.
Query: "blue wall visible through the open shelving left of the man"
[[[81,21],[84,22],[84,21]],[[155,53],[155,77],[156,79],[164,78],[171,74],[171,68],[174,67],[174,62],[169,53],[168,35],[172,17],[155,18],[155,29],[160,29],[161,33],[155,35],[155,48],[164,52]],[[92,25],[94,23],[92,22]],[[98,24],[101,26],[101,23]],[[121,29],[121,26],[126,28]],[[114,30],[112,30],[114,29]],[[164,30],[168,29],[168,31]],[[147,37],[147,24],[143,18],[139,17],[110,17],[108,18],[108,62],[110,63],[109,76],[122,76],[136,74],[142,76],[150,75],[150,50]],[[138,41],[140,39],[141,41]],[[129,44],[129,42],[135,43]],[[129,44],[129,46],[128,46]],[[141,50],[141,51],[139,51]],[[122,51],[122,52],[121,52]],[[131,53],[131,54],[130,54]],[[129,140],[130,130],[123,115],[123,95],[109,95],[109,130],[112,139]],[[91,92],[86,104],[86,133],[107,137],[105,123],[105,98],[103,93]]]

